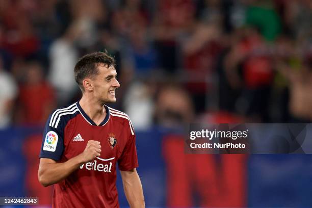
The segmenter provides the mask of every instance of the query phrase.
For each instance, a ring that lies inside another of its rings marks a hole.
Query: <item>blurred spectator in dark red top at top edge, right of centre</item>
[[[161,0],[152,25],[160,66],[170,73],[179,66],[178,38],[192,30],[195,20],[193,1]]]

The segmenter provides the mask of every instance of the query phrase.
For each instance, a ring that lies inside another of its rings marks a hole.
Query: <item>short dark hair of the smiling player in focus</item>
[[[95,52],[81,57],[75,65],[74,75],[76,83],[84,91],[82,81],[86,77],[92,77],[98,74],[97,67],[103,64],[107,67],[115,67],[115,59],[107,54],[107,52]]]

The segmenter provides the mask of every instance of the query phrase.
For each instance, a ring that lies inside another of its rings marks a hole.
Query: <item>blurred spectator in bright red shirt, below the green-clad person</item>
[[[266,122],[274,77],[269,47],[255,29],[248,28],[236,35],[222,63],[230,89],[239,90],[232,105],[240,114]]]

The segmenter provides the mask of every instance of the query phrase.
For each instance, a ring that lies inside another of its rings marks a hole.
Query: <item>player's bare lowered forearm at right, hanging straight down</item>
[[[142,184],[137,170],[120,171],[120,174],[130,207],[145,207]]]

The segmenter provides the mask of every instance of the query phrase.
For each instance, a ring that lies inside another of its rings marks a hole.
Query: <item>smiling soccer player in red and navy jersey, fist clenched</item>
[[[79,59],[75,80],[83,96],[50,114],[43,133],[38,178],[55,184],[53,207],[119,207],[116,165],[131,207],[144,207],[129,117],[105,103],[116,102],[120,87],[115,61],[106,53]]]

